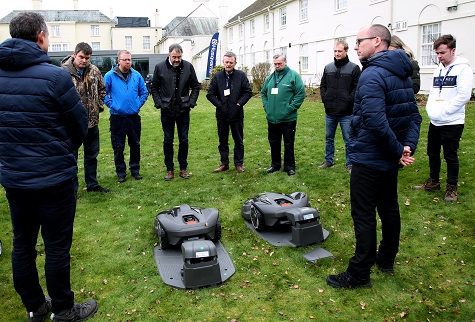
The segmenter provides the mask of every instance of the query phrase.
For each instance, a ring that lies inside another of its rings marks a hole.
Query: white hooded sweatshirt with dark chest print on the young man
[[[457,57],[434,71],[426,111],[435,126],[465,123],[465,104],[472,95],[473,73],[468,60]],[[441,87],[442,86],[442,87]]]

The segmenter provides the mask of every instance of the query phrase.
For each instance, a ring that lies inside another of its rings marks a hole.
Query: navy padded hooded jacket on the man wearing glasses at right
[[[404,146],[416,151],[422,117],[412,88],[412,66],[402,50],[384,50],[361,61],[348,153],[352,164],[389,171]]]

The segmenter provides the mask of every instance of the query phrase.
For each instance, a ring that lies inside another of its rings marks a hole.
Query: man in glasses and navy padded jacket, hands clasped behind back
[[[363,65],[355,94],[349,138],[351,216],[356,248],[345,272],[329,275],[335,288],[371,287],[376,263],[393,274],[401,218],[398,169],[414,162],[422,117],[412,89],[412,64],[402,50],[387,50],[391,41],[383,25],[357,34],[355,50]],[[382,239],[376,249],[376,210]]]

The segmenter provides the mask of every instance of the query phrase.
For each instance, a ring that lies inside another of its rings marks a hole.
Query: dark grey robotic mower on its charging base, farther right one
[[[328,236],[304,192],[260,193],[244,202],[241,215],[260,237],[276,246],[307,246]]]

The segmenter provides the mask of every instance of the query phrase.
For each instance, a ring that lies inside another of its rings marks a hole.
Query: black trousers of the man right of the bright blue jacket
[[[178,116],[161,114],[163,129],[163,153],[167,171],[173,171],[173,139],[175,137],[175,124],[178,132],[178,163],[180,170],[188,167],[188,131],[190,129],[190,111],[185,111]]]

